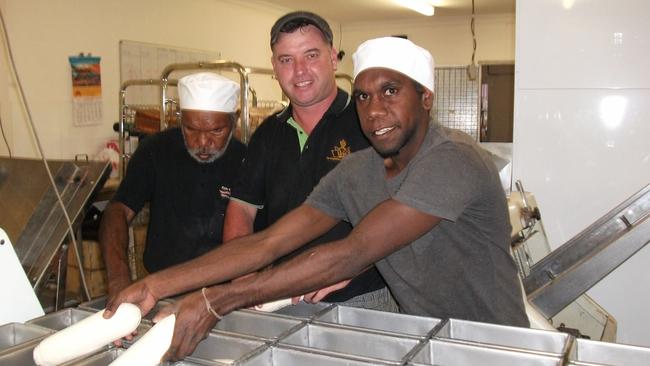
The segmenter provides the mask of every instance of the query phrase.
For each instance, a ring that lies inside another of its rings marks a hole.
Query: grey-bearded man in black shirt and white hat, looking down
[[[245,152],[232,139],[239,85],[214,73],[178,82],[181,127],[144,139],[104,210],[99,242],[109,297],[131,283],[127,228],[149,203],[144,266],[156,272],[221,243],[230,188]]]

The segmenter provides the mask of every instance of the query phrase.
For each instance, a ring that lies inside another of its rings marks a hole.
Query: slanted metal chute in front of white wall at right
[[[650,184],[536,263],[528,300],[547,318],[650,242]]]

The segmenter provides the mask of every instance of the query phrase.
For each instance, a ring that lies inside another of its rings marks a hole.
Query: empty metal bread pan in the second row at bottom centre
[[[298,346],[305,351],[316,349],[334,355],[361,356],[379,362],[395,362],[404,358],[418,344],[418,339],[308,324],[280,339],[280,344]]]

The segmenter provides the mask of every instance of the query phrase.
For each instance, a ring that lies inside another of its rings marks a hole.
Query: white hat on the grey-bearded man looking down
[[[178,80],[181,109],[233,113],[239,106],[239,84],[213,72],[199,72]]]

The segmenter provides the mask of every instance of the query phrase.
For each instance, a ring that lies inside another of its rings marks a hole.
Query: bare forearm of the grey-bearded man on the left
[[[106,265],[109,297],[131,284],[127,246],[128,227],[134,216],[133,210],[121,202],[109,203],[102,215],[98,236]]]

